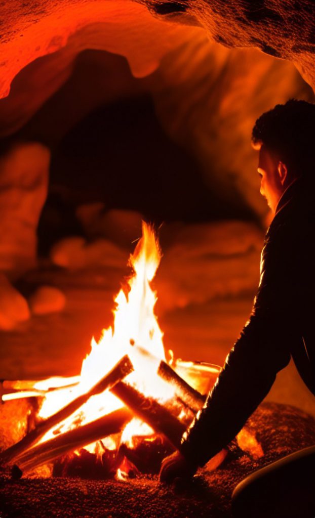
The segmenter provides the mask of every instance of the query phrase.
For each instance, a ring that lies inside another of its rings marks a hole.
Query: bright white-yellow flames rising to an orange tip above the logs
[[[161,260],[161,253],[153,228],[143,222],[142,238],[129,259],[133,275],[128,280],[127,290],[120,290],[115,298],[113,327],[104,329],[100,341],[91,341],[91,352],[84,359],[79,384],[71,389],[47,393],[39,415],[47,418],[80,394],[87,392],[122,356],[128,354],[134,372],[126,378],[147,396],[165,401],[173,396],[173,390],[157,376],[161,359],[165,359],[163,334],[154,314],[157,300],[150,282]],[[126,293],[127,292],[127,293]],[[93,396],[75,415],[67,419],[59,430],[75,428],[112,412],[123,405],[110,392]],[[42,441],[53,437],[50,430]],[[131,442],[133,435],[153,433],[147,425],[134,419],[124,430],[123,440]],[[56,432],[55,432],[56,433]],[[89,445],[91,451],[91,445]]]

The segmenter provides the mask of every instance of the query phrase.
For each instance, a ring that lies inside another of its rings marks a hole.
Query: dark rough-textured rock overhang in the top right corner
[[[140,0],[159,17],[194,18],[226,47],[258,47],[292,61],[315,85],[315,6],[312,0]]]

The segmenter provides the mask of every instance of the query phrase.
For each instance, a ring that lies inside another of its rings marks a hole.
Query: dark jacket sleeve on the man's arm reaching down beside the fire
[[[261,279],[250,320],[244,326],[206,404],[183,436],[181,452],[202,466],[224,448],[268,394],[277,372],[290,361],[297,339],[293,313],[294,265],[291,245],[276,232],[266,235]]]

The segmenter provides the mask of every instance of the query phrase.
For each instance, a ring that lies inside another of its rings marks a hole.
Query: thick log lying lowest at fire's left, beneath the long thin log
[[[31,471],[38,466],[48,464],[54,459],[83,448],[87,444],[98,441],[112,434],[119,433],[132,419],[133,415],[127,408],[120,408],[100,419],[79,426],[74,430],[60,434],[49,441],[37,444],[19,457],[18,467],[13,473],[22,475],[23,471]]]

